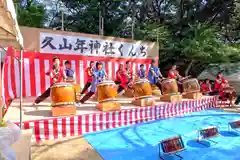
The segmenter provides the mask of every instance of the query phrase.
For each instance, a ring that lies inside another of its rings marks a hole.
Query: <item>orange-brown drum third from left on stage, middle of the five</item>
[[[135,97],[152,96],[152,88],[147,79],[138,79],[133,83]]]

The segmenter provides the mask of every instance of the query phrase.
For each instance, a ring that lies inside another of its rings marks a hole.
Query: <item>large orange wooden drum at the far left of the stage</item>
[[[51,87],[52,107],[75,104],[75,89],[71,83],[56,83]]]

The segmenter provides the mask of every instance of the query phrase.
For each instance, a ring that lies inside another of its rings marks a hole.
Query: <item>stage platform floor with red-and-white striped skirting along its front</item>
[[[35,97],[23,100],[23,128],[33,128],[33,141],[59,139],[68,136],[79,136],[84,133],[117,128],[137,123],[144,123],[185,113],[198,112],[217,107],[218,97],[204,96],[200,100],[184,99],[179,103],[160,102],[156,105],[137,107],[130,104],[130,98],[119,98],[121,111],[101,112],[95,108],[96,101],[88,101],[77,108],[77,115],[52,117],[50,100],[36,107],[32,106]],[[5,116],[6,119],[19,124],[19,100],[14,100]]]

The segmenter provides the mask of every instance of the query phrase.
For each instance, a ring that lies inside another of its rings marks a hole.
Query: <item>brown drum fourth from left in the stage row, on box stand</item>
[[[164,79],[161,81],[163,94],[177,94],[178,85],[175,79]]]

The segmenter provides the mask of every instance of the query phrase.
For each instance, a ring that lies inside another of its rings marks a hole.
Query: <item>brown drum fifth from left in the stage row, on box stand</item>
[[[185,93],[200,92],[200,85],[196,78],[183,80],[182,84],[183,84],[183,92]]]

